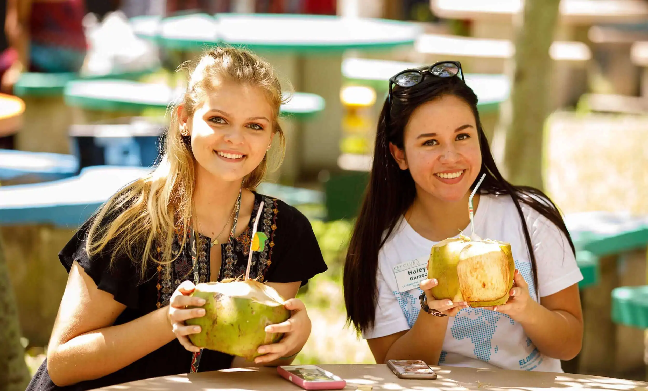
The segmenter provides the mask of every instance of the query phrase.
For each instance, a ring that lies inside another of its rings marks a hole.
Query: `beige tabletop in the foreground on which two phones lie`
[[[315,337],[315,336],[313,336]],[[579,390],[644,390],[646,383],[610,377],[492,370],[458,366],[430,366],[435,380],[399,379],[384,364],[323,364],[324,370],[347,382],[345,390],[539,390],[579,388]],[[371,387],[371,388],[369,388]],[[98,388],[98,391],[165,390],[207,391],[303,390],[277,374],[276,368],[232,368],[198,374],[172,375]]]

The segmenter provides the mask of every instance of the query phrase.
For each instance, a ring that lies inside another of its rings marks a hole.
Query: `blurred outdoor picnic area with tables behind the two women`
[[[393,74],[458,60],[505,177],[542,188],[577,247],[585,333],[564,370],[647,376],[648,0],[0,3],[0,368],[16,390],[47,352],[58,251],[154,166],[176,70],[222,44],[292,95],[283,166],[258,190],[307,215],[329,265],[299,292],[313,328],[295,363],[375,362],[341,276],[376,118]]]

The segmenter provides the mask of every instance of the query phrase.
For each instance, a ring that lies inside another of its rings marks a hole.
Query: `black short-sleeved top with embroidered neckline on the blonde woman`
[[[322,258],[310,221],[296,208],[283,201],[255,193],[255,205],[248,229],[221,246],[222,263],[218,280],[246,273],[250,236],[261,201],[264,201],[264,208],[257,230],[264,232],[268,240],[262,251],[253,252],[250,277],[260,277],[260,281],[263,282],[300,281],[301,285],[304,285],[316,274],[326,271],[327,265]],[[59,258],[68,272],[73,261],[78,262],[97,284],[98,289],[111,293],[117,302],[126,306],[115,325],[130,322],[159,307],[168,306],[168,300],[178,285],[185,280],[194,280],[189,240],[176,261],[168,266],[153,265],[150,276],[141,282],[138,266],[128,259],[117,260],[111,269],[108,268],[110,256],[95,256],[89,259],[85,249],[87,229],[89,222],[86,222],[65,245],[59,253]],[[178,240],[173,245],[175,254],[178,254],[181,247],[180,231],[176,231]],[[209,238],[198,234],[196,245],[199,282],[208,282],[211,275]],[[170,267],[168,279],[165,278],[167,267]],[[190,372],[191,359],[192,353],[185,350],[178,340],[174,340],[113,374],[64,387],[52,383],[45,361],[27,390],[91,390],[150,377],[185,374]],[[225,353],[203,350],[198,372],[229,368],[232,359],[233,356]]]

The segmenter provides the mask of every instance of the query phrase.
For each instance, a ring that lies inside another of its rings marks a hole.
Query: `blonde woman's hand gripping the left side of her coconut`
[[[185,309],[188,306],[201,307],[205,305],[205,300],[199,297],[191,297],[191,293],[196,289],[191,281],[185,281],[178,286],[178,289],[171,295],[168,300],[168,313],[167,318],[173,330],[173,333],[178,338],[178,341],[189,350],[189,352],[200,352],[200,348],[189,341],[187,335],[200,333],[200,326],[187,326],[185,320],[191,318],[200,318],[205,315],[205,309],[192,308]]]

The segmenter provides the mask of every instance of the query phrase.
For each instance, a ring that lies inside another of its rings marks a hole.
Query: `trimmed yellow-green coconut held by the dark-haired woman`
[[[509,300],[515,262],[511,244],[496,240],[448,238],[432,246],[428,278],[435,299],[467,302],[471,307],[501,306]]]

